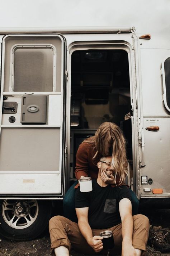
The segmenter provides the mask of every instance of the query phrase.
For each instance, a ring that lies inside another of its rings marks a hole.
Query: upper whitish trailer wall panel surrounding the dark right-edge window
[[[142,98],[143,115],[159,116],[170,113],[166,110],[162,101],[162,77],[160,65],[162,60],[170,55],[166,49],[141,49],[141,72],[142,72]],[[148,58],[149,56],[149,58]]]

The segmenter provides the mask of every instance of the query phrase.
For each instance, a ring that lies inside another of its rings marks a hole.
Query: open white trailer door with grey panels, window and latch
[[[3,38],[0,102],[1,196],[62,196],[65,39]]]

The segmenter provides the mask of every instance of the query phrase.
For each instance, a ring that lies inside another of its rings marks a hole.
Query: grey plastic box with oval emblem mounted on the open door
[[[21,123],[46,123],[47,96],[22,96]]]

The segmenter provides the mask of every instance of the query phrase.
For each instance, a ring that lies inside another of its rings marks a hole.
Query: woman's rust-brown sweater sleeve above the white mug
[[[81,176],[88,177],[88,151],[89,145],[86,142],[81,143],[77,150],[75,167],[75,176],[77,180],[80,179]]]

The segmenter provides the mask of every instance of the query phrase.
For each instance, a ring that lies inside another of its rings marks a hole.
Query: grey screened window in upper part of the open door
[[[13,60],[13,91],[53,91],[53,50],[51,48],[19,47],[14,50]]]

